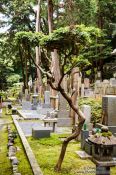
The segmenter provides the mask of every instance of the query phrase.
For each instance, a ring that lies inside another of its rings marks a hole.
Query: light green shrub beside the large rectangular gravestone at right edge
[[[91,122],[98,123],[101,120],[102,114],[102,104],[101,99],[93,99],[93,98],[80,98],[79,99],[79,106],[82,105],[90,105],[91,106]]]

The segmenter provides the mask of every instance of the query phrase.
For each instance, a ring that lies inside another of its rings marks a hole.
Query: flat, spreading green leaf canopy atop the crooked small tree
[[[101,31],[98,28],[76,25],[59,28],[49,35],[18,32],[15,38],[18,43],[27,42],[31,46],[40,45],[48,50],[57,49],[61,53],[71,50],[73,55],[77,55],[83,47],[88,47],[95,42],[96,37],[99,38],[101,36]]]

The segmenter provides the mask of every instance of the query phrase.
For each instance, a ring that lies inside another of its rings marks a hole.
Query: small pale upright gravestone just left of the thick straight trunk
[[[43,108],[50,108],[50,91],[45,91],[44,92],[44,104]]]

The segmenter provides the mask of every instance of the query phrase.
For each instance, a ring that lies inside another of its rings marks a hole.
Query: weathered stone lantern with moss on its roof
[[[113,149],[116,145],[116,137],[103,126],[100,133],[88,138],[92,143],[92,161],[96,164],[96,175],[110,175],[110,167],[116,165],[113,158]]]

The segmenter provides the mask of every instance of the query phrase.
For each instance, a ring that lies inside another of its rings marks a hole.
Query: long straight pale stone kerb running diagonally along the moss
[[[12,118],[13,118],[13,116],[12,116]],[[20,128],[20,126],[19,126],[19,124],[18,124],[16,119],[13,118],[13,121],[14,121],[14,124],[15,124],[15,126],[17,128],[19,136],[20,136],[20,138],[22,140],[23,146],[25,148],[25,151],[26,151],[26,154],[27,154],[27,157],[29,159],[29,162],[30,162],[30,165],[32,167],[34,175],[43,175],[43,173],[42,173],[42,171],[41,171],[41,169],[40,169],[40,167],[39,167],[39,165],[37,163],[37,160],[36,160],[36,158],[35,158],[35,156],[34,156],[34,154],[32,152],[32,149],[31,149],[31,147],[30,147],[30,145],[29,145],[29,143],[28,143],[28,141],[27,141],[27,139],[26,139],[22,129]]]

